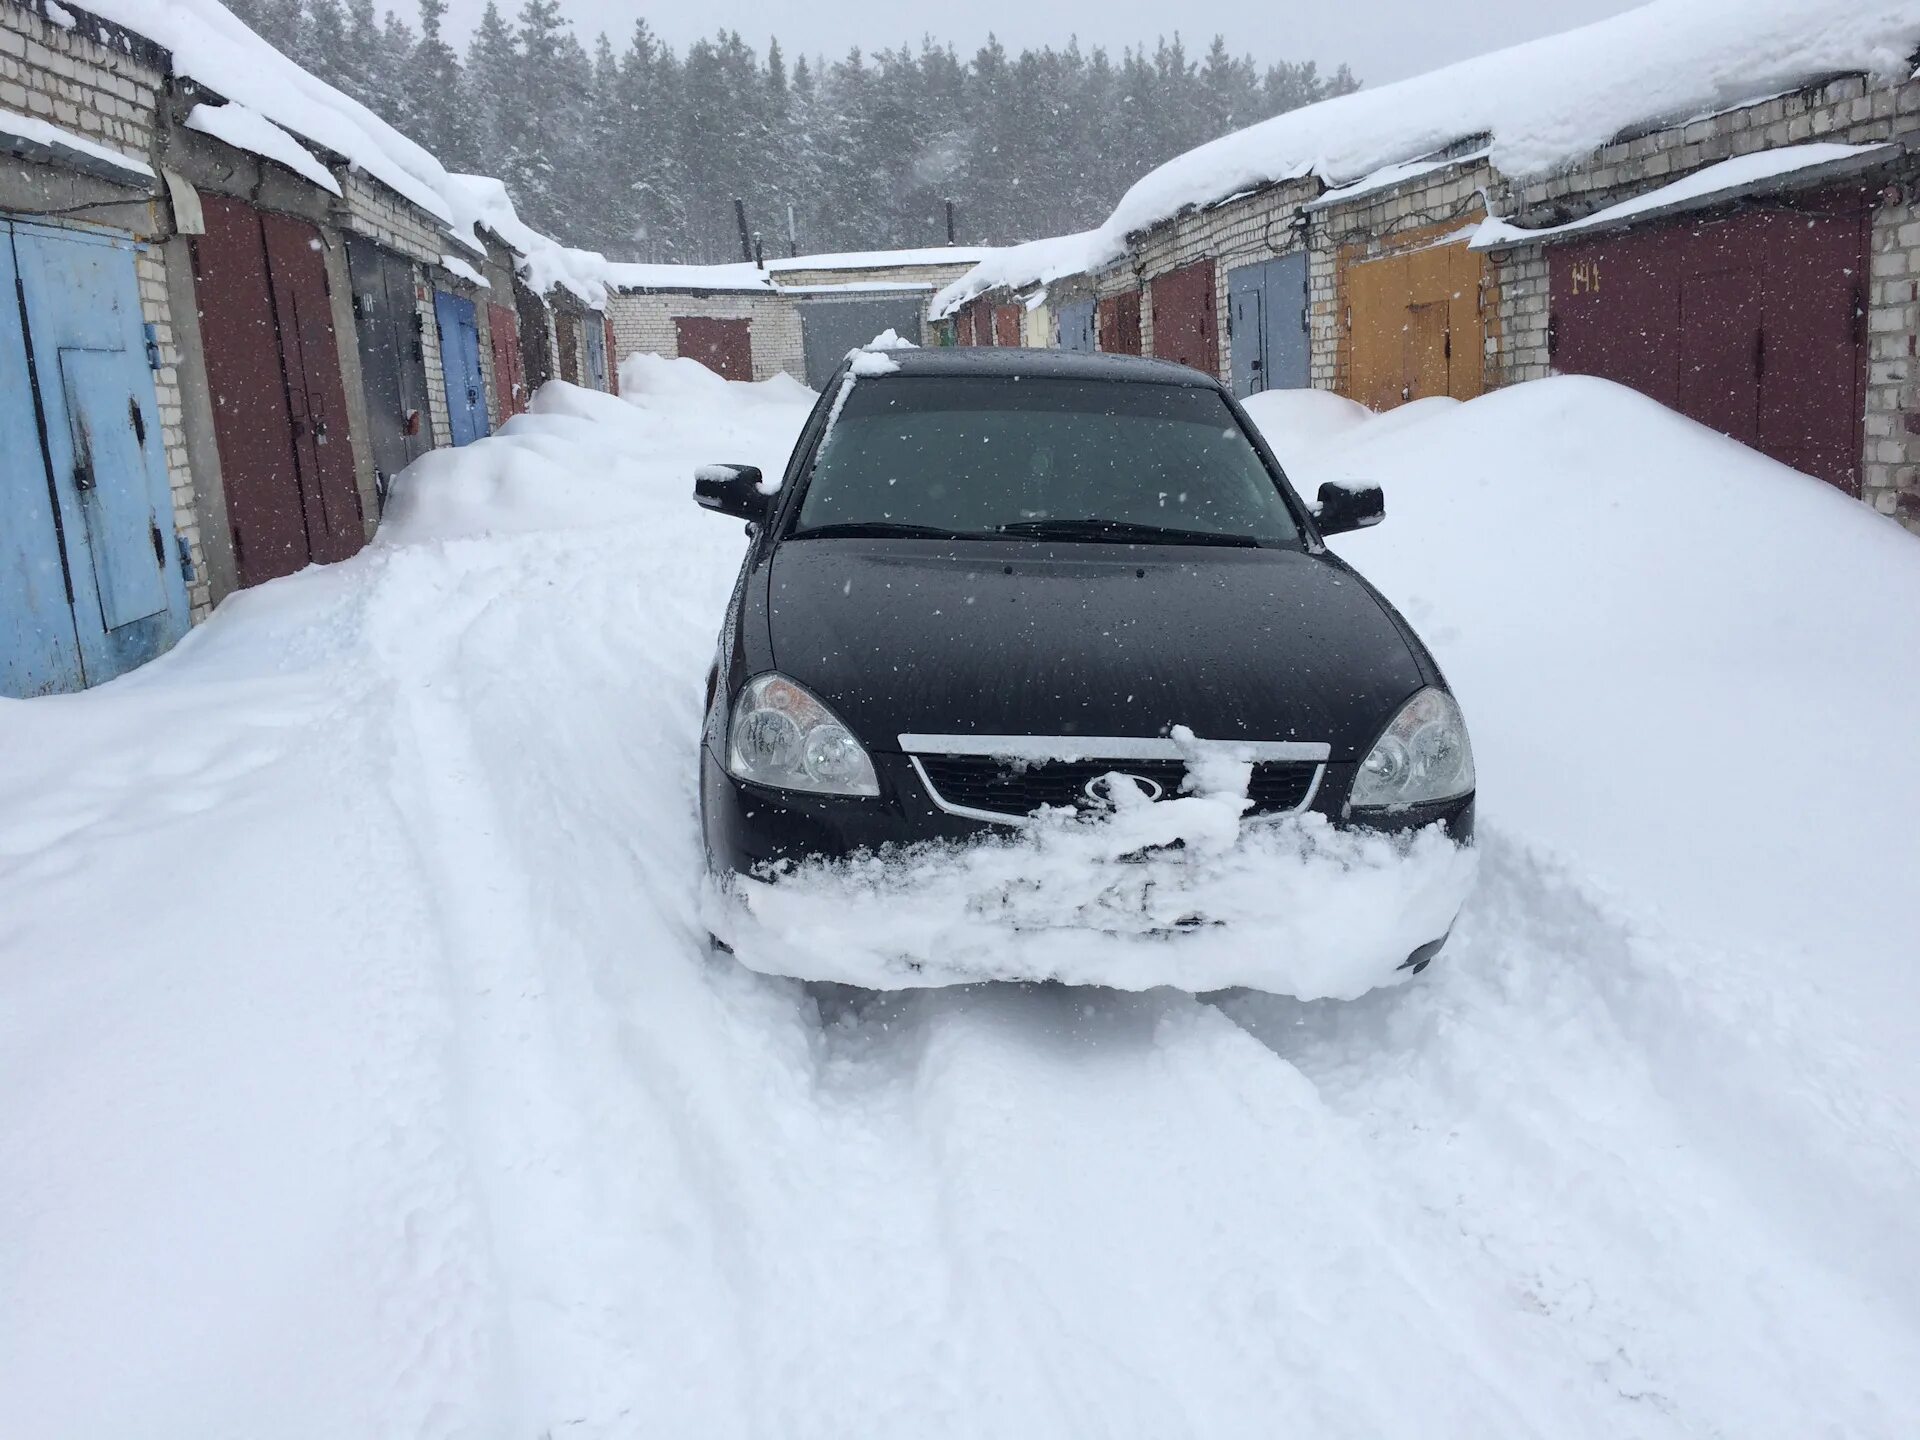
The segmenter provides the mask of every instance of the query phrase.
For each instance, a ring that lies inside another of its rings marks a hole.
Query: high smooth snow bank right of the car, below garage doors
[[[1482,820],[1649,924],[1862,987],[1920,1054],[1920,541],[1605,380],[1344,434],[1290,409],[1256,401],[1306,495],[1386,486],[1386,524],[1334,545],[1453,684]]]

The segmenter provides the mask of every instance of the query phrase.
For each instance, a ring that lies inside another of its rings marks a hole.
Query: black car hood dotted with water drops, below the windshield
[[[1292,549],[801,540],[766,605],[774,664],[874,749],[1190,726],[1357,760],[1425,678],[1356,574]]]

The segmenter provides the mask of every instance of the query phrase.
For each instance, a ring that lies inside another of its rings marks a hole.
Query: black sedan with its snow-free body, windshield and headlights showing
[[[701,756],[720,876],[1173,795],[1177,726],[1252,762],[1250,816],[1473,835],[1440,670],[1323,543],[1380,492],[1308,507],[1198,371],[860,351],[778,482],[703,467],[695,499],[753,536]]]

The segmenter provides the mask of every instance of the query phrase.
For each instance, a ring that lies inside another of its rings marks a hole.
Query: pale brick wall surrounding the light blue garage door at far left
[[[69,12],[69,19],[65,25],[48,19],[44,0],[0,0],[0,106],[36,115],[157,169],[159,98],[171,69],[169,58],[144,38],[83,12]],[[29,161],[8,161],[8,184],[0,186],[0,209],[33,213],[83,205],[77,213],[86,221],[125,230],[136,240],[157,240],[161,232],[154,196],[146,190],[67,177]],[[56,225],[71,223],[58,215],[50,219]],[[211,593],[194,472],[186,459],[180,349],[173,332],[161,250],[142,250],[134,271],[140,315],[154,326],[159,342],[161,365],[154,372],[159,440],[173,492],[173,524],[194,561],[188,601],[198,622],[211,609]]]

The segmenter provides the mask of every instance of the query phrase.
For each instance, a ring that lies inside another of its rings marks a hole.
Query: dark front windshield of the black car
[[[1018,376],[856,382],[793,528],[847,534],[1300,541],[1217,390]]]

